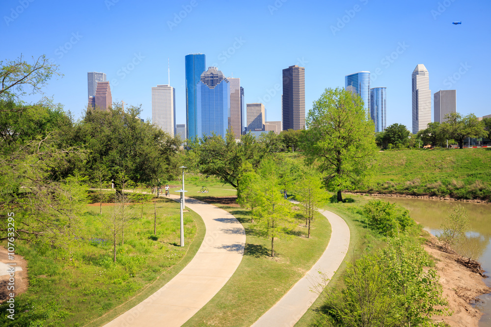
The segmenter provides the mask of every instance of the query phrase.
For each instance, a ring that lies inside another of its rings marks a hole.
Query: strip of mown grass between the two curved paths
[[[319,259],[329,242],[330,225],[318,214],[312,224],[310,239],[305,237],[306,228],[298,226],[288,238],[274,241],[276,257],[272,258],[271,239],[256,236],[248,210],[223,205],[214,199],[206,201],[230,212],[243,224],[246,229],[245,255],[225,286],[184,326],[250,326]],[[302,223],[303,219],[299,219],[298,224]]]

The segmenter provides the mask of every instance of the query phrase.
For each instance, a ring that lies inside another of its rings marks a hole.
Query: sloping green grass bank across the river
[[[491,198],[491,149],[382,151],[358,191],[456,199]]]

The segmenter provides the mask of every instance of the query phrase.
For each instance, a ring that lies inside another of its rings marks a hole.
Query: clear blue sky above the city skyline
[[[184,124],[184,56],[197,52],[240,77],[246,103],[263,102],[269,121],[281,120],[282,69],[295,64],[305,67],[306,111],[325,88],[344,87],[345,75],[370,71],[371,87],[387,87],[387,124],[411,130],[411,73],[424,64],[432,102],[456,89],[458,112],[491,114],[488,0],[3,0],[0,13],[0,60],[56,61],[64,76],[44,91],[75,117],[96,71],[111,81],[113,101],[141,104],[151,118],[151,87],[167,84],[169,59]]]

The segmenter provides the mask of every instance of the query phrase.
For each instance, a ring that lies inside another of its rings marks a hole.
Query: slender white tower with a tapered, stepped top
[[[425,65],[418,64],[412,72],[412,133],[431,123],[430,75]]]

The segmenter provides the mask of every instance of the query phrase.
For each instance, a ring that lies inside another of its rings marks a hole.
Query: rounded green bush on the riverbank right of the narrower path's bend
[[[408,210],[386,201],[370,201],[363,206],[362,212],[368,226],[384,236],[394,236],[399,230],[406,231],[415,224]]]

